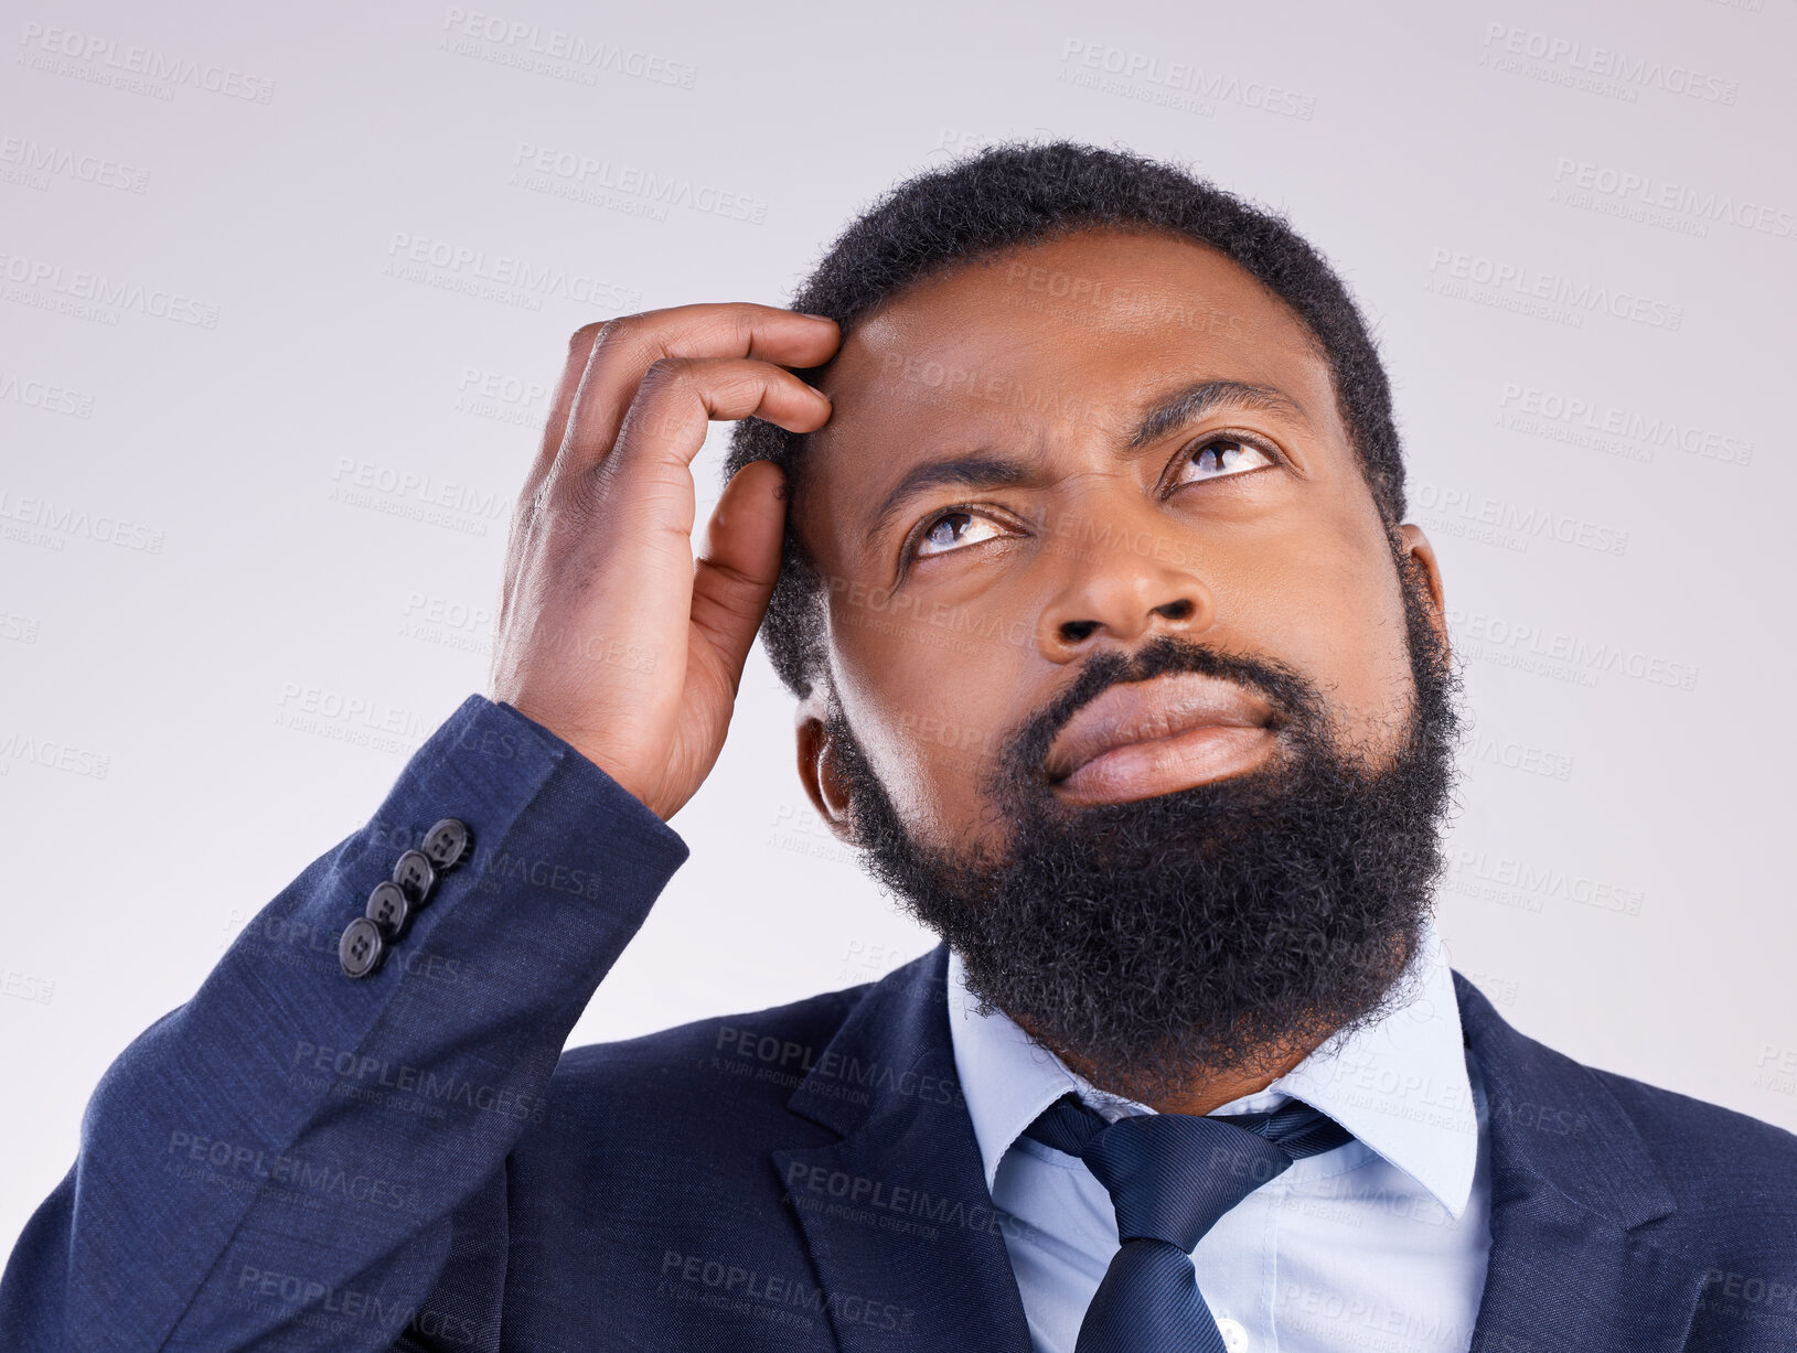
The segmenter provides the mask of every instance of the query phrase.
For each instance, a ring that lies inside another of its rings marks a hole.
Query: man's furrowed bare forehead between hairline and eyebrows
[[[807,517],[850,528],[854,501],[963,444],[1118,446],[1157,394],[1200,379],[1279,390],[1346,444],[1310,331],[1218,250],[1096,228],[960,264],[843,340],[821,381],[834,413],[809,438],[823,501],[807,492]]]

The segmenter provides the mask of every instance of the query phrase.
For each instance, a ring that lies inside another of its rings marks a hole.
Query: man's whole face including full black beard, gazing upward
[[[1402,951],[1427,904],[1445,634],[1434,555],[1402,528],[1407,595],[1299,320],[1213,250],[1082,232],[913,287],[852,329],[823,385],[836,411],[791,514],[830,588],[836,706],[800,712],[819,809],[961,949],[976,992],[1064,1044],[1057,1024],[1129,1003],[1130,947],[1134,985],[1209,963],[1270,990],[1272,959],[1245,951],[1274,922],[1362,976],[1332,1004],[1310,981],[1324,959],[1285,956],[1283,985],[1308,983],[1330,1021],[1359,1013],[1394,976],[1373,951]],[[1256,821],[1384,834],[1378,859],[1405,862],[1330,929],[1305,898],[1371,866]],[[1001,895],[1021,886],[1078,897]],[[1060,925],[1064,951],[1039,934]],[[1042,1006],[1049,967],[1084,983],[1084,1013]],[[1226,986],[1213,1004],[1236,1001]],[[1184,1053],[1240,1051],[1206,1033]]]

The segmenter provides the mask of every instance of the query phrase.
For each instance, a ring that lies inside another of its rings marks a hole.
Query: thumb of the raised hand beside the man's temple
[[[692,658],[735,692],[780,577],[785,473],[771,460],[739,469],[706,525],[692,573]]]

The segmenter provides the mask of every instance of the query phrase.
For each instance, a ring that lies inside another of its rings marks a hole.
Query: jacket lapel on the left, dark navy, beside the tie
[[[1030,1353],[974,1127],[954,1074],[949,951],[873,986],[787,1107],[841,1141],[775,1152],[843,1353]]]

